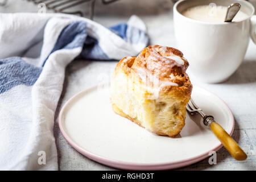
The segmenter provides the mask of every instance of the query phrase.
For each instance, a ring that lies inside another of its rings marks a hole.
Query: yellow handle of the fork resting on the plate
[[[236,160],[245,160],[247,158],[247,155],[242,148],[238,146],[237,142],[231,138],[217,122],[210,123],[210,129],[220,140],[226,150],[228,150],[228,152],[233,156],[233,158]]]

